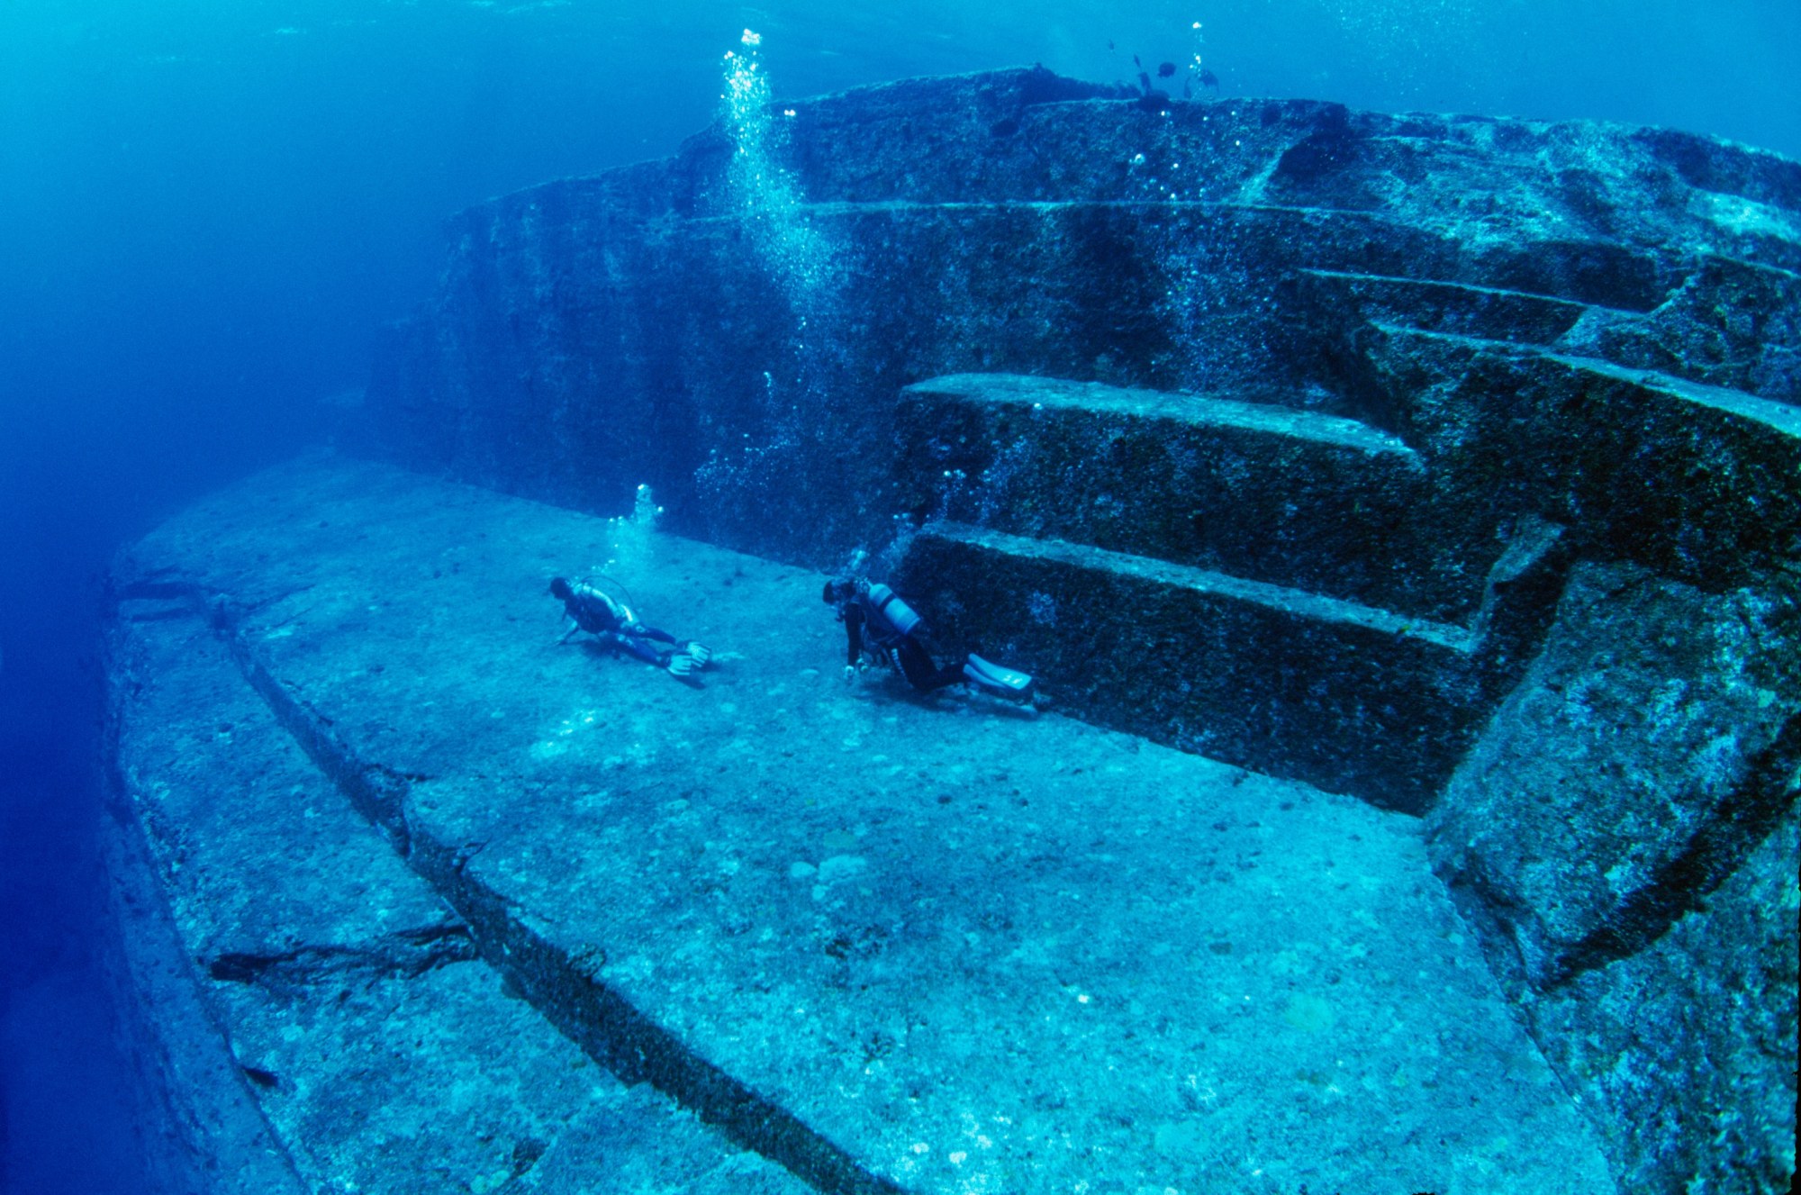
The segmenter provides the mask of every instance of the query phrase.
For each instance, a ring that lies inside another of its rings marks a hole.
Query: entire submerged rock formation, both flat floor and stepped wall
[[[121,558],[191,1154],[1785,1190],[1801,164],[1041,68],[755,115],[456,216],[366,459]],[[645,484],[706,693],[542,633]],[[1066,716],[846,689],[857,551]]]

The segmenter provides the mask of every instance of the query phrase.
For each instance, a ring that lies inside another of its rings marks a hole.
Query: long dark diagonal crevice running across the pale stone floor
[[[470,948],[558,1031],[621,1082],[652,1083],[737,1146],[778,1163],[819,1191],[900,1195],[900,1186],[870,1173],[850,1152],[798,1116],[695,1055],[681,1038],[596,979],[593,966],[584,966],[580,959],[520,925],[504,896],[468,875],[468,855],[461,844],[438,842],[412,831],[405,817],[405,797],[412,783],[409,777],[357,759],[317,713],[256,660],[236,630],[238,612],[223,599],[205,603],[198,590],[191,590],[191,598],[202,601],[202,608],[211,606],[213,624],[276,720],[357,812],[387,835],[412,871],[463,918],[468,929],[457,930],[468,934]],[[268,963],[258,963],[250,956],[222,956],[214,965],[229,957],[229,972],[265,977],[279,974],[283,966],[301,965],[303,954],[304,950],[292,952],[292,957],[272,956]]]

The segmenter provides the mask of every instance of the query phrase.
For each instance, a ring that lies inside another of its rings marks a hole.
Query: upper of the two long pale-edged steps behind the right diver
[[[1401,439],[1340,416],[1018,374],[902,391],[919,515],[1464,617],[1500,554]]]

